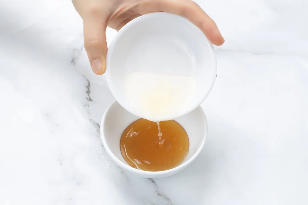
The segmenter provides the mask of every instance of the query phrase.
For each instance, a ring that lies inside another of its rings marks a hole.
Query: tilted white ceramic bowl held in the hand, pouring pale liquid
[[[186,108],[166,119],[172,120],[196,109],[208,96],[216,78],[213,45],[186,18],[152,13],[125,25],[112,40],[106,59],[106,78],[116,101],[141,118],[125,98],[124,85],[132,72],[191,76],[196,92]],[[142,85],[140,85],[142,86]]]

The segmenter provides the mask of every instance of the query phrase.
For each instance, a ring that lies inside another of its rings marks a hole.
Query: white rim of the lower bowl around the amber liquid
[[[205,141],[206,141],[206,137],[207,137],[207,131],[208,131],[208,123],[207,123],[207,119],[206,119],[206,116],[205,116],[205,113],[203,111],[203,109],[201,108],[201,106],[198,106],[196,109],[199,110],[199,112],[201,112],[202,114],[202,119],[203,119],[203,122],[204,122],[204,136],[203,136],[203,139],[202,139],[202,142],[200,144],[200,147],[197,149],[197,151],[193,154],[193,156],[188,159],[186,162],[180,164],[179,166],[175,167],[175,168],[172,168],[172,169],[168,169],[168,170],[164,170],[164,171],[144,171],[144,170],[139,170],[139,169],[136,169],[136,168],[133,168],[131,166],[129,166],[128,164],[125,164],[124,162],[122,162],[121,160],[119,160],[114,154],[113,152],[111,152],[108,144],[107,144],[107,141],[106,141],[106,137],[105,137],[105,134],[104,134],[104,124],[105,124],[105,119],[106,119],[106,116],[107,116],[107,113],[110,111],[110,108],[112,106],[114,106],[115,104],[119,104],[120,103],[118,101],[113,101],[109,106],[108,108],[106,109],[106,111],[104,112],[103,114],[103,117],[102,117],[102,121],[101,121],[101,124],[100,124],[100,136],[101,136],[101,139],[102,139],[102,142],[103,142],[103,146],[106,150],[106,152],[108,153],[108,155],[111,157],[111,159],[116,163],[118,164],[120,167],[122,167],[123,169],[127,170],[127,171],[130,171],[132,173],[135,173],[135,174],[138,174],[138,175],[151,175],[153,177],[156,177],[156,176],[159,176],[159,175],[166,175],[166,174],[169,174],[169,173],[176,173],[177,171],[180,171],[181,169],[185,168],[186,166],[188,166],[189,164],[191,164],[196,158],[197,156],[199,156],[200,152],[202,151],[204,145],[205,145]],[[122,105],[120,105],[122,107]],[[122,107],[123,108],[123,107]],[[125,109],[125,108],[124,108]],[[195,109],[195,110],[196,110]],[[194,111],[194,110],[193,110]],[[131,113],[132,114],[132,113]],[[133,114],[132,114],[133,115]],[[120,146],[120,144],[119,144]],[[122,156],[122,155],[121,155]]]

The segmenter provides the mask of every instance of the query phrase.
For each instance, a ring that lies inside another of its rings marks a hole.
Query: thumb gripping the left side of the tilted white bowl
[[[88,17],[83,19],[84,48],[86,49],[91,68],[97,75],[106,70],[106,20]]]

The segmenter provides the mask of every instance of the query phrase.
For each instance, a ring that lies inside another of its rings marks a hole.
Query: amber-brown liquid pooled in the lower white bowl
[[[158,124],[139,119],[124,130],[120,149],[124,160],[133,168],[163,171],[183,162],[189,150],[189,140],[184,128],[174,120]]]

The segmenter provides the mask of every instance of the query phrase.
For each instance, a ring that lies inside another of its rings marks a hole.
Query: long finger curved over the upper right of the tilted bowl
[[[183,16],[199,27],[211,43],[222,45],[225,42],[213,19],[191,0],[152,0],[147,1],[146,5],[143,6],[143,8],[140,8],[140,12],[143,9],[151,8],[150,12],[163,11]]]

